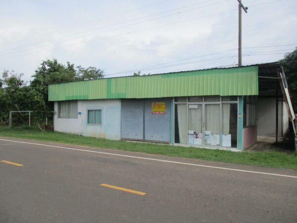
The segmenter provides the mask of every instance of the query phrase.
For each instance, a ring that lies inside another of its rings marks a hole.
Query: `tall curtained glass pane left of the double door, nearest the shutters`
[[[187,144],[187,105],[175,105],[174,142]]]

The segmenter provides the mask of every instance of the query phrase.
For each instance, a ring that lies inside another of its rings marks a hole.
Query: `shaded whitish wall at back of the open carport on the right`
[[[278,102],[278,137],[282,137],[283,133],[289,129],[286,116],[288,113],[283,107],[283,102]],[[284,112],[286,111],[286,112]],[[276,103],[275,98],[258,98],[257,107],[257,135],[275,137],[276,131]]]

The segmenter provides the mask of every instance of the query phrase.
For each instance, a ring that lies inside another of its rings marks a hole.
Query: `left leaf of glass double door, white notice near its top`
[[[202,104],[188,105],[188,144],[202,145]]]

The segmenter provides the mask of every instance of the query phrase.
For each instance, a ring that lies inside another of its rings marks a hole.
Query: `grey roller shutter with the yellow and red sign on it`
[[[165,102],[165,114],[152,114],[151,103]],[[170,140],[170,99],[147,99],[145,103],[145,141]]]

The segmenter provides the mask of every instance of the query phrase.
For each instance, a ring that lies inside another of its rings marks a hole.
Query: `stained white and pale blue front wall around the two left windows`
[[[78,118],[58,118],[54,103],[54,130],[96,138],[119,140],[121,138],[121,100],[79,100]],[[88,110],[101,110],[101,125],[88,124]]]

